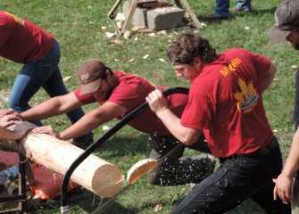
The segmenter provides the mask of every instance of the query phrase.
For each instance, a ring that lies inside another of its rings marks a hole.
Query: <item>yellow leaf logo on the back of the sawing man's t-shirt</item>
[[[234,94],[237,99],[237,109],[240,112],[249,112],[253,110],[253,106],[258,102],[259,95],[253,86],[253,82],[250,82],[248,86],[245,81],[239,78],[238,85],[241,88],[241,92]]]

